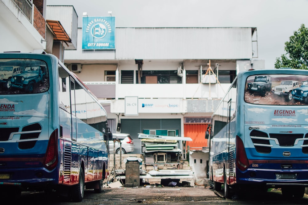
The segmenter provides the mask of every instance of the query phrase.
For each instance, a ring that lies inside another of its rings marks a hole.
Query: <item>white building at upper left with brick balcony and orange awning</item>
[[[78,21],[73,6],[58,7],[63,10],[61,18],[51,19],[46,0],[0,0],[0,52],[46,52],[63,61],[64,50],[77,47]]]

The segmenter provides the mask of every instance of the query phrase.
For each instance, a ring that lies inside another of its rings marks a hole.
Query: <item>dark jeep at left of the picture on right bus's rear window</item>
[[[247,84],[247,90],[252,92],[258,92],[261,96],[265,96],[266,91],[270,91],[272,88],[271,76],[255,76],[253,83]]]

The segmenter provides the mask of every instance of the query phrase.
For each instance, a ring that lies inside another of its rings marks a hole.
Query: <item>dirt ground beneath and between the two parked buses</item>
[[[20,199],[1,200],[1,205],[294,205],[308,204],[307,195],[300,199],[285,199],[281,191],[246,193],[244,198],[223,199],[217,193],[204,186],[194,187],[119,187],[104,188],[102,193],[85,190],[82,202],[71,202],[57,195],[44,192],[23,192]]]

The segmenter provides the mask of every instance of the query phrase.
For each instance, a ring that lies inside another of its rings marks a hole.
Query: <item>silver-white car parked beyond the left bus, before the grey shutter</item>
[[[130,134],[125,133],[112,133],[112,138],[117,139],[121,141],[121,150],[120,150],[120,143],[118,141],[115,141],[115,153],[120,154],[122,151],[122,154],[126,154],[129,152],[134,151],[134,142]],[[113,141],[109,141],[109,153],[113,153]]]

